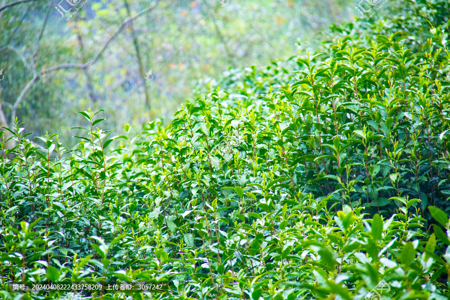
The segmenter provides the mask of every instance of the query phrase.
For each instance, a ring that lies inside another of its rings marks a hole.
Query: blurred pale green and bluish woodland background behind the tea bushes
[[[89,61],[128,16],[155,4],[127,23],[88,68],[61,68],[39,76],[17,105],[17,118],[26,121],[27,130],[34,136],[59,132],[65,143],[74,144],[71,136],[76,132],[70,127],[81,119],[73,112],[87,108],[103,108],[105,126],[123,128],[131,123],[134,133],[155,118],[166,123],[189,95],[214,85],[211,78],[238,73],[243,65],[260,67],[269,59],[285,60],[316,49],[329,24],[353,20],[357,13],[350,0],[222,3],[227,4],[88,0],[64,17],[54,8],[55,0],[2,10],[2,125],[13,121],[11,107],[32,80],[34,69]],[[59,4],[70,7],[65,1]],[[149,70],[153,78],[147,82],[144,76]]]

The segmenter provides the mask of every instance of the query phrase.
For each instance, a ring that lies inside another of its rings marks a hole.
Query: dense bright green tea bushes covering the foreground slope
[[[385,298],[447,299],[450,12],[403,2],[334,26],[323,53],[231,70],[133,138],[90,110],[74,149],[9,129],[0,296],[90,277],[171,287],[134,298],[375,299],[386,282]]]

